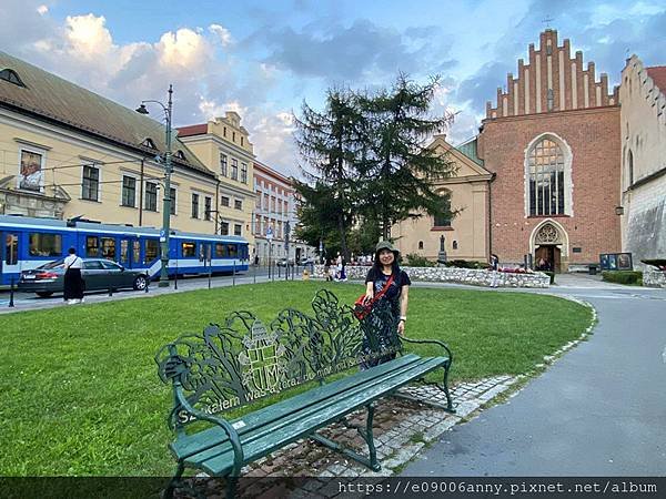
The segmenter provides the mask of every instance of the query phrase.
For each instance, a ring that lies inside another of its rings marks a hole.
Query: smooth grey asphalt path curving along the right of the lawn
[[[553,291],[597,309],[589,339],[403,476],[666,476],[666,289]]]

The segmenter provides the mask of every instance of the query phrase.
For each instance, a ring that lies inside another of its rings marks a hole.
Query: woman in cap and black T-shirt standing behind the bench
[[[370,355],[382,349],[395,350],[398,345],[395,344],[397,332],[404,335],[405,323],[407,320],[407,302],[410,297],[410,276],[397,265],[400,252],[389,241],[382,241],[375,248],[374,265],[367,272],[365,277],[365,302],[372,302],[380,293],[382,297],[375,303],[375,307],[386,307],[390,312],[390,320],[384,317],[371,314],[365,324],[366,332],[363,338],[363,354]],[[384,318],[384,320],[381,320]],[[373,336],[376,335],[376,338]],[[367,367],[382,364],[395,358],[395,352],[385,355],[374,361],[365,363]]]

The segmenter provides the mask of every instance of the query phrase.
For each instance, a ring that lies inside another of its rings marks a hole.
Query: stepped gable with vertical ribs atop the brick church
[[[486,119],[519,116],[534,113],[613,106],[618,90],[608,93],[608,75],[596,81],[595,64],[583,63],[583,52],[571,58],[571,42],[557,45],[557,31],[541,33],[539,48],[529,44],[528,63],[518,60],[517,78],[508,73],[506,90],[497,89],[497,102],[486,103]]]

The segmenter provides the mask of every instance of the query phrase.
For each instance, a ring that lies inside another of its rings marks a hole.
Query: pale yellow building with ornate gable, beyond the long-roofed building
[[[243,236],[253,245],[254,151],[241,116],[229,111],[208,123],[183,126],[178,136],[220,180],[214,208],[219,233]]]

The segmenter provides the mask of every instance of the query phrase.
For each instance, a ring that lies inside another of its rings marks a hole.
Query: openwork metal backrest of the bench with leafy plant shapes
[[[193,406],[210,414],[361,365],[371,367],[402,349],[390,304],[382,299],[362,322],[325,289],[314,316],[286,308],[265,327],[249,312],[223,325],[188,334],[155,356],[162,381],[180,384]],[[190,422],[174,408],[171,424]]]

